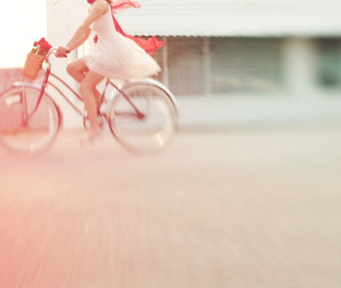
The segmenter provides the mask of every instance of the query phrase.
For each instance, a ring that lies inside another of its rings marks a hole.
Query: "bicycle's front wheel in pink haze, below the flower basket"
[[[57,137],[60,112],[46,93],[40,102],[40,89],[12,87],[0,95],[0,144],[19,154],[38,154]],[[37,106],[38,105],[38,106]]]

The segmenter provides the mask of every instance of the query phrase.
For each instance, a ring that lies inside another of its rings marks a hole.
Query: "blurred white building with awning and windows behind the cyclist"
[[[141,0],[117,14],[131,35],[167,44],[156,77],[180,107],[180,124],[205,126],[341,119],[339,0]],[[65,44],[86,17],[85,0],[47,0],[48,40]],[[92,37],[91,37],[92,38]],[[92,48],[86,42],[53,71]],[[65,125],[77,115],[63,105]]]

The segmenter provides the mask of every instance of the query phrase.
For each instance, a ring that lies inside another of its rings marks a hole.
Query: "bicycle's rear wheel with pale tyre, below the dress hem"
[[[108,110],[111,132],[120,144],[137,154],[160,150],[178,126],[178,113],[172,97],[162,87],[130,83],[114,97]]]

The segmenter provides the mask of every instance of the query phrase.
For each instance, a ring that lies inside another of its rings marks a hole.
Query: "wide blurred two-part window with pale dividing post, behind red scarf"
[[[284,88],[280,38],[168,37],[166,42],[154,54],[162,72],[153,78],[167,82],[175,96]]]

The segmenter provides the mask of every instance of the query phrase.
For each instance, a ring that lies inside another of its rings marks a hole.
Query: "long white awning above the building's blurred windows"
[[[340,0],[168,2],[141,2],[117,19],[136,36],[341,36]]]

